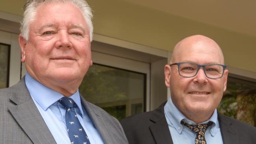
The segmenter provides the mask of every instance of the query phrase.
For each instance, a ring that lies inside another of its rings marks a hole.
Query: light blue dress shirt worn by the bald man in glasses
[[[173,104],[171,98],[167,101],[164,106],[165,118],[174,144],[195,144],[195,132],[191,131],[188,127],[180,124],[181,120],[184,120],[187,124],[196,125],[195,122],[187,119]],[[208,127],[204,135],[207,144],[223,144],[221,130],[219,127],[219,122],[217,118],[217,110],[213,112],[211,118],[200,124],[206,124],[208,122],[213,122],[211,126]]]

